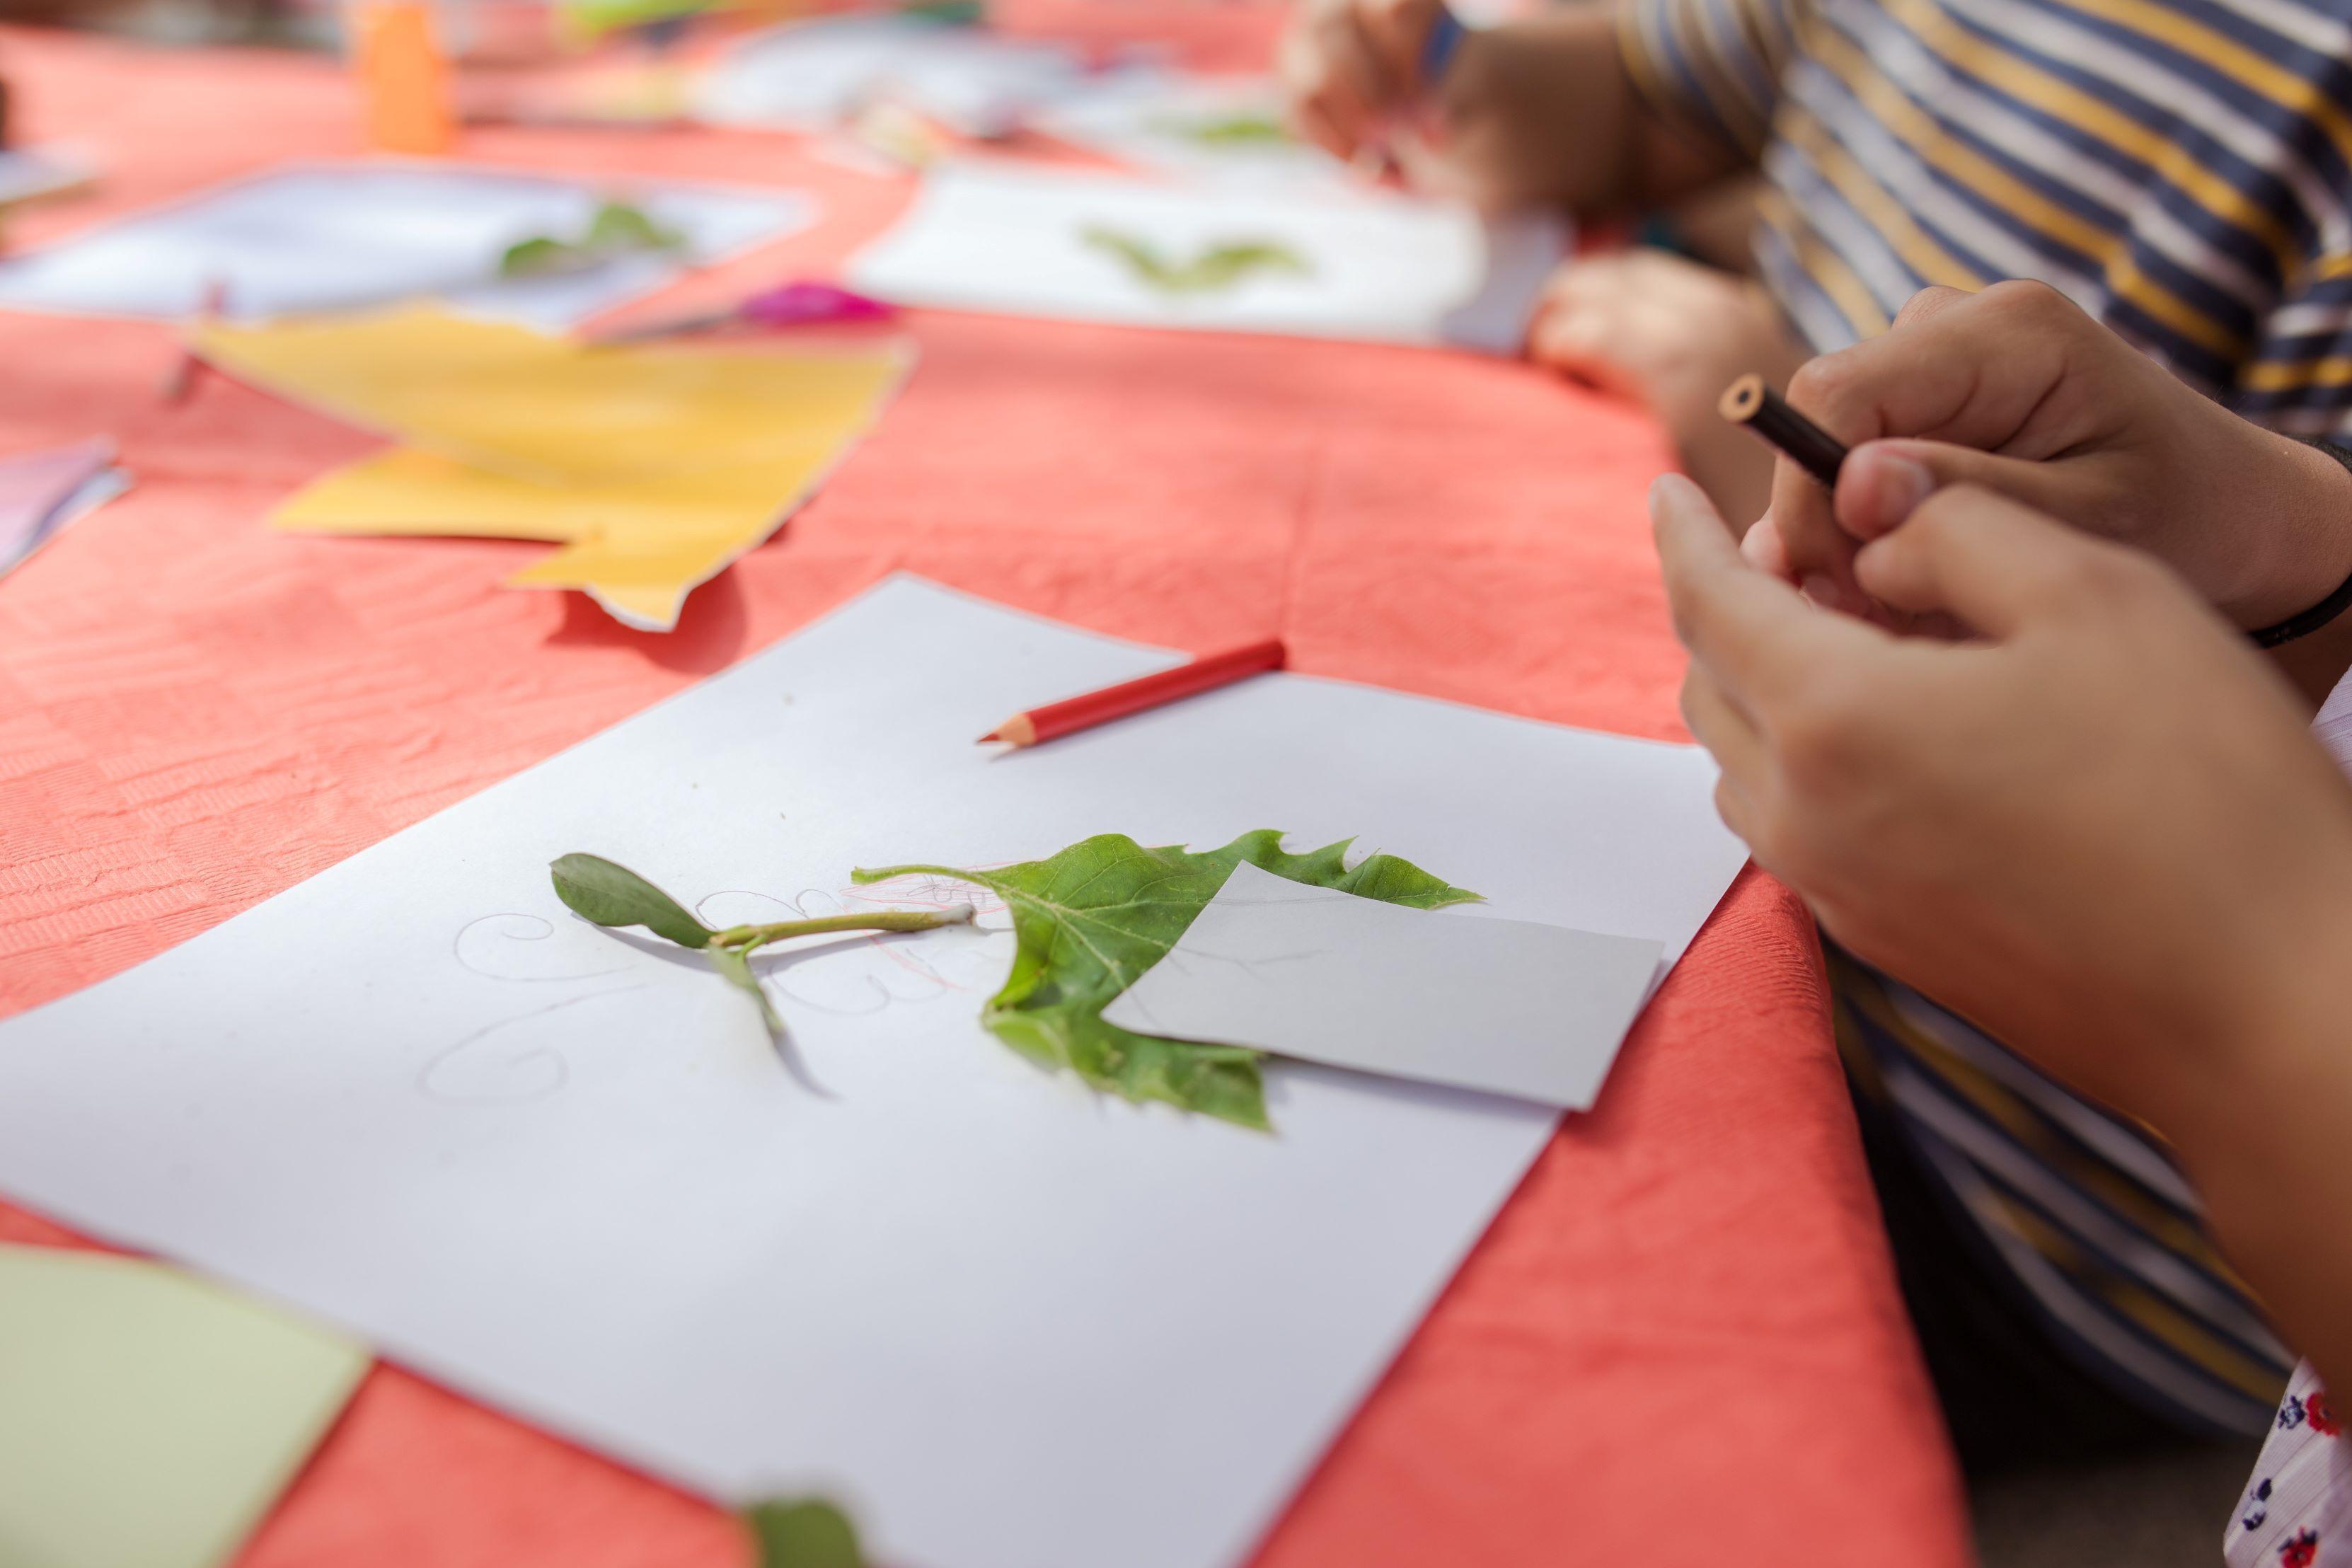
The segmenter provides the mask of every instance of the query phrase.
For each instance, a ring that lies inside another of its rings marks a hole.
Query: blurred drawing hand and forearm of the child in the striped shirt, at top
[[[1606,5],[1479,28],[1442,80],[1421,78],[1439,0],[1303,0],[1282,45],[1301,129],[1341,158],[1425,132],[1416,183],[1486,209],[1656,205],[1752,165],[1729,141],[1658,113],[1637,92]]]

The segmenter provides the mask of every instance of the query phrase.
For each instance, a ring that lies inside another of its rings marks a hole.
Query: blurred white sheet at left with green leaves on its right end
[[[499,280],[508,244],[579,235],[607,197],[680,230],[684,252]],[[814,200],[790,190],[597,183],[435,162],[292,165],[0,261],[0,308],[188,317],[219,282],[233,320],[437,296],[562,329],[659,289],[682,263],[722,261],[814,219]]]

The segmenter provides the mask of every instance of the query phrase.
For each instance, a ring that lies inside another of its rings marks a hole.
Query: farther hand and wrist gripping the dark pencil
[[[2147,550],[2249,628],[2352,576],[2343,465],[2199,397],[2044,284],[1926,289],[1891,331],[1799,369],[1790,402],[1853,456],[1835,501],[1780,461],[1748,555],[1849,609],[1856,548],[1957,482]]]

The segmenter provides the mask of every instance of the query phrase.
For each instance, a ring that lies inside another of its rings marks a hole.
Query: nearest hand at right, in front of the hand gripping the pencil
[[[2352,954],[2352,790],[2171,571],[1945,489],[1856,576],[1978,639],[1903,639],[1748,567],[1684,480],[1651,517],[1724,820],[1839,943],[2166,1131],[2312,1023],[2281,1009]]]

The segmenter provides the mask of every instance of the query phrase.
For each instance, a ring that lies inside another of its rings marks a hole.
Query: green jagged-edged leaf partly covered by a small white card
[[[1348,867],[1350,839],[1294,856],[1272,827],[1223,849],[1145,849],[1105,832],[1044,860],[997,870],[884,865],[856,870],[861,884],[910,872],[990,889],[1014,912],[1014,969],[981,1009],[997,1039],[1044,1067],[1068,1067],[1094,1088],[1129,1100],[1167,1100],[1242,1126],[1268,1126],[1258,1051],[1136,1034],[1103,1020],[1103,1009],[1157,964],[1242,860],[1305,882],[1416,910],[1475,900],[1411,860],[1371,856]]]

